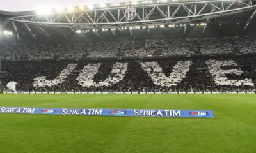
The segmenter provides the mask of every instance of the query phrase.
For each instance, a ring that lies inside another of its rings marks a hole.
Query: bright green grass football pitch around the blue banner
[[[2,94],[0,106],[214,111],[214,119],[0,114],[1,153],[256,152],[256,94]]]

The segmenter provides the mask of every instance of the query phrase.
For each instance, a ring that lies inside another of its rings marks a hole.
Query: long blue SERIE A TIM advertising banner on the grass
[[[212,118],[212,110],[131,110],[98,108],[19,108],[0,107],[0,113],[41,115],[87,115],[120,117],[200,117]]]

